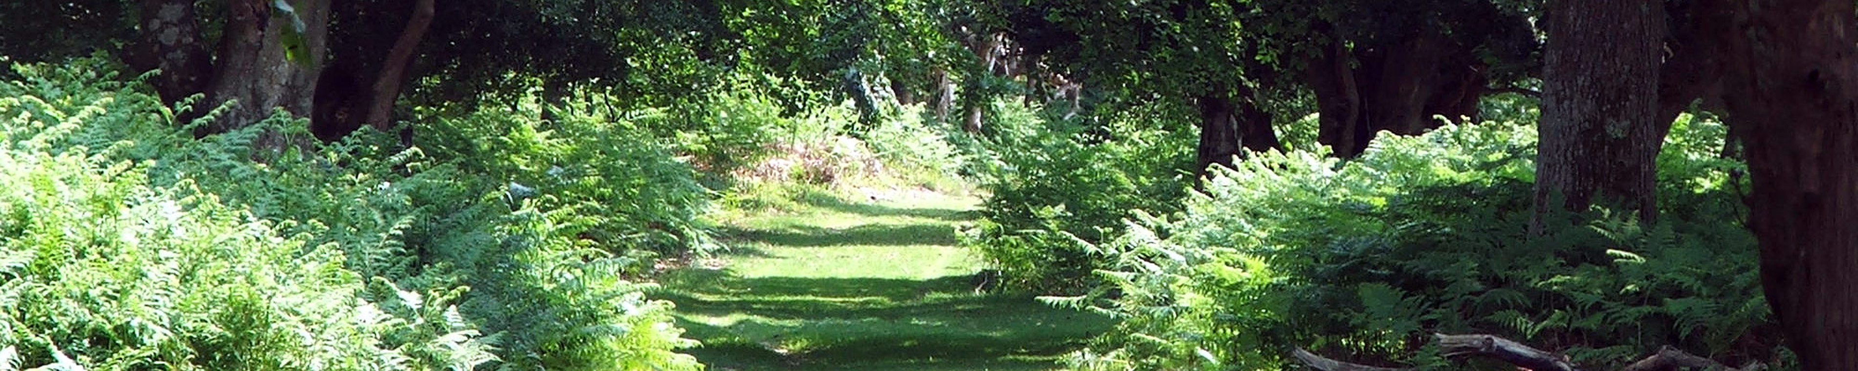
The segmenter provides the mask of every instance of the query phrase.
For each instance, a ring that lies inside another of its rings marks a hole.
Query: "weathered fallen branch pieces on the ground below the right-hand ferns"
[[[1568,362],[1568,356],[1563,356],[1563,354],[1557,354],[1557,352],[1550,352],[1550,351],[1542,351],[1542,349],[1535,349],[1535,347],[1529,347],[1529,345],[1522,345],[1522,343],[1516,343],[1516,341],[1511,341],[1511,339],[1505,339],[1505,338],[1498,338],[1498,336],[1486,336],[1486,334],[1464,334],[1464,336],[1433,334],[1433,338],[1438,339],[1438,347],[1444,351],[1446,356],[1490,356],[1490,358],[1498,358],[1498,360],[1509,362],[1509,364],[1512,364],[1516,367],[1533,369],[1533,371],[1579,371],[1579,367],[1574,367],[1574,364]],[[1377,365],[1362,365],[1362,364],[1349,364],[1349,362],[1330,360],[1330,358],[1317,356],[1315,352],[1310,352],[1310,351],[1304,351],[1304,349],[1297,349],[1291,354],[1297,356],[1297,360],[1302,360],[1302,364],[1310,365],[1312,369],[1321,369],[1321,371],[1405,371],[1405,367],[1377,367]],[[1748,365],[1743,365],[1743,367],[1737,369],[1737,367],[1728,367],[1728,365],[1717,364],[1715,360],[1709,360],[1709,358],[1702,358],[1702,356],[1694,356],[1694,354],[1678,351],[1674,347],[1663,347],[1657,352],[1654,352],[1654,354],[1650,354],[1650,356],[1646,356],[1646,358],[1642,358],[1639,362],[1633,362],[1631,365],[1626,365],[1620,371],[1676,371],[1676,369],[1683,369],[1683,367],[1728,369],[1728,371],[1756,371],[1756,369],[1761,369],[1761,364],[1748,364]]]

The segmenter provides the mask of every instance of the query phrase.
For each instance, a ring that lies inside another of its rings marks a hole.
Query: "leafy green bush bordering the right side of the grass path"
[[[1089,130],[996,102],[996,135],[975,167],[992,191],[964,243],[992,260],[1009,289],[1078,289],[1098,267],[1085,247],[1115,236],[1130,210],[1174,210],[1193,154],[1146,111]],[[1152,109],[1150,106],[1148,109]]]

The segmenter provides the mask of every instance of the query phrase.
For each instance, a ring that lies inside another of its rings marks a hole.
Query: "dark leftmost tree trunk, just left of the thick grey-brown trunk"
[[[214,65],[193,0],[141,0],[141,50],[147,58],[136,69],[162,69],[149,82],[162,102],[206,91]]]

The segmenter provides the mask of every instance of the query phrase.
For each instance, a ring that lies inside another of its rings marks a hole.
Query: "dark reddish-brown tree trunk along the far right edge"
[[[1754,187],[1761,288],[1804,369],[1858,369],[1858,28],[1851,0],[1711,0]]]

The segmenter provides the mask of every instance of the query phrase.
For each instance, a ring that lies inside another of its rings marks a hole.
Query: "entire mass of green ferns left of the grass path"
[[[61,351],[106,369],[702,367],[674,352],[695,343],[671,304],[630,276],[708,245],[708,193],[622,130],[637,117],[479,111],[435,119],[470,134],[435,135],[435,156],[386,150],[385,134],[260,152],[307,141],[303,121],[193,139],[95,70],[110,69],[20,67],[0,87],[6,154],[22,158],[0,165],[26,169],[0,174],[20,184],[0,237],[26,262],[0,288],[35,295],[0,301],[20,308],[0,345],[24,365]]]

